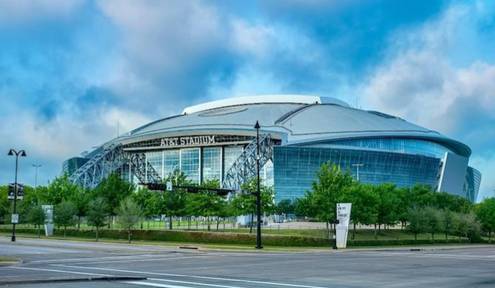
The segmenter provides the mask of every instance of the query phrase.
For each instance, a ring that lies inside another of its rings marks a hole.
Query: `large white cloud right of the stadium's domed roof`
[[[475,37],[485,13],[477,6],[453,6],[419,29],[400,31],[392,38],[388,60],[371,73],[360,92],[372,109],[470,145],[471,164],[485,176],[481,194],[493,195],[490,185],[495,183],[489,175],[495,167],[495,65],[485,60],[465,63],[459,59],[469,58],[470,51],[458,51],[466,35],[460,31]]]

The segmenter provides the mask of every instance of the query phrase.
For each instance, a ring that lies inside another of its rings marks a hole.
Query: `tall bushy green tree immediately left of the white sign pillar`
[[[337,165],[325,163],[317,172],[317,179],[312,184],[308,194],[311,209],[316,218],[327,224],[328,238],[330,239],[330,223],[336,218],[337,203],[345,199],[347,190],[352,186],[353,178],[349,173],[341,171]]]

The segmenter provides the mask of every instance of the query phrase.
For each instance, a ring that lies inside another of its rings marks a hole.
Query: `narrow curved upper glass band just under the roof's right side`
[[[316,144],[312,147],[329,148],[335,146],[360,147],[388,152],[419,154],[429,157],[443,158],[446,152],[452,152],[447,147],[421,139],[408,138],[366,138],[332,141],[325,144]],[[454,153],[454,152],[452,152]]]

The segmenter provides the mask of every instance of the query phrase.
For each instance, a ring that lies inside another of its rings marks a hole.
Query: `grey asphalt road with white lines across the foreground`
[[[495,246],[259,253],[2,237],[0,255],[23,260],[0,267],[9,287],[495,287]],[[37,280],[54,282],[19,283]]]

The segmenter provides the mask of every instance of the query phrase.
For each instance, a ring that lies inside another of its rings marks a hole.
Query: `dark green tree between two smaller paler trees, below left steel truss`
[[[134,185],[122,179],[119,174],[112,173],[103,179],[93,190],[94,197],[101,197],[105,202],[106,213],[114,218],[120,202],[134,191]]]

